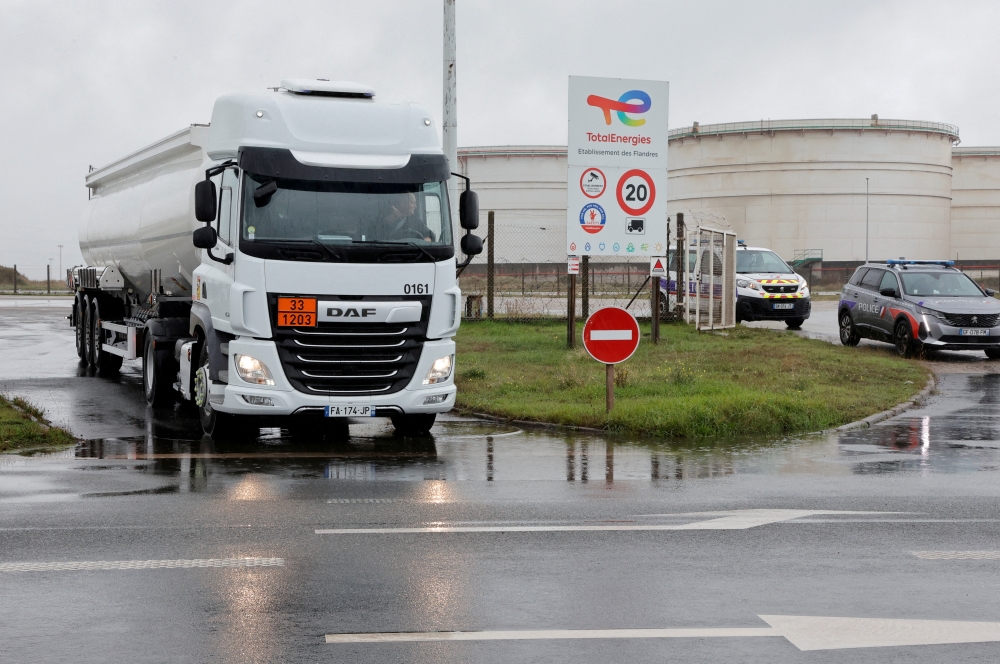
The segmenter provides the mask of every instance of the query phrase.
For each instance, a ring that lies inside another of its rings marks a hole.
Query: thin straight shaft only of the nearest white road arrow
[[[704,639],[781,636],[771,627],[689,629],[540,629],[495,632],[376,632],[327,634],[327,643],[399,643],[401,641],[525,641],[535,639]]]

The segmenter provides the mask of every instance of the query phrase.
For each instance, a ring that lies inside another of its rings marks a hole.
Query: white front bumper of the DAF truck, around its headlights
[[[235,354],[250,355],[268,366],[274,385],[255,385],[244,382],[236,373]],[[292,415],[319,412],[326,406],[372,406],[375,417],[388,417],[398,413],[445,413],[455,406],[455,369],[446,381],[424,385],[423,379],[435,360],[455,354],[451,339],[426,341],[420,354],[413,378],[406,388],[392,394],[328,397],[306,394],[294,389],[285,377],[274,341],[240,337],[229,342],[229,384],[213,383],[210,391],[212,407],[223,413],[240,415]],[[254,405],[243,397],[266,397],[271,405]],[[441,397],[439,403],[425,403],[429,397]]]

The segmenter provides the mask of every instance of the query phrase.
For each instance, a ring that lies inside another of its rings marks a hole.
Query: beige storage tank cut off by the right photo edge
[[[951,256],[995,261],[1000,254],[1000,147],[952,151]]]

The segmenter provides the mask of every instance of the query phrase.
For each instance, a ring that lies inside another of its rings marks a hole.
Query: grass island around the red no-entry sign
[[[582,325],[578,327],[582,329]],[[785,435],[828,429],[906,401],[929,374],[875,348],[738,326],[722,334],[649,324],[616,368],[566,349],[565,323],[466,323],[458,333],[458,407],[537,422],[675,438]]]

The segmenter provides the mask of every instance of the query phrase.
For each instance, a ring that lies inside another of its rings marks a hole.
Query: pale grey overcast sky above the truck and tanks
[[[671,126],[868,117],[1000,144],[1000,2],[457,0],[460,146],[565,144],[570,74],[667,80]],[[282,78],[441,119],[441,0],[0,0],[0,264],[82,262],[87,166]]]

